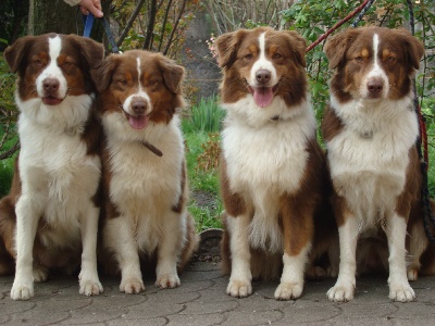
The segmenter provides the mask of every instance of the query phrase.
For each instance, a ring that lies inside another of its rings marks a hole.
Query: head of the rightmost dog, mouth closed
[[[423,45],[403,28],[346,29],[325,45],[330,68],[336,70],[332,90],[341,102],[401,99],[411,90],[423,51]]]

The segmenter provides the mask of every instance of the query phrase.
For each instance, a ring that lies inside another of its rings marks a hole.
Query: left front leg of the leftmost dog
[[[28,300],[34,297],[34,242],[39,218],[42,214],[44,198],[23,193],[16,202],[16,267],[12,285],[13,300]]]

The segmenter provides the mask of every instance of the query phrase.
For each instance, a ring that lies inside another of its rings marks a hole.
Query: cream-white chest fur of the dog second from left
[[[111,158],[111,200],[121,214],[129,218],[147,220],[165,214],[182,193],[184,143],[178,118],[174,117],[167,126],[150,125],[142,136],[132,136],[130,140],[125,139],[128,137],[125,134],[123,139],[117,137],[116,130],[112,129],[116,127],[113,118],[117,118],[115,114],[103,117]],[[137,130],[128,133],[134,135]],[[157,156],[139,139],[153,145],[163,156]]]

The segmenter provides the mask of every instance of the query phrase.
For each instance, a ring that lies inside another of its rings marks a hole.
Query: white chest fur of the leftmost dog
[[[100,159],[87,155],[79,134],[91,97],[70,97],[69,103],[72,98],[77,106],[38,108],[37,100],[22,103],[18,121],[22,196],[32,196],[42,205],[46,222],[54,229],[52,237],[46,231],[42,241],[58,244],[74,242],[69,237],[79,241],[80,208],[96,193],[101,171]],[[65,114],[71,118],[60,116]]]

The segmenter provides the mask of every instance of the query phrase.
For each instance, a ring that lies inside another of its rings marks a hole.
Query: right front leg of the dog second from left
[[[181,285],[176,271],[186,235],[186,213],[170,212],[165,216],[162,238],[159,239],[156,285],[162,289]]]

